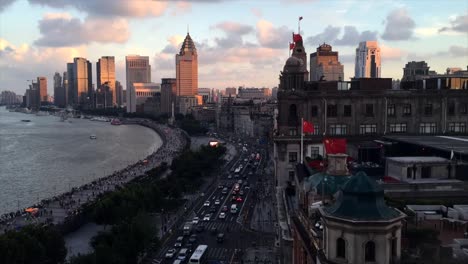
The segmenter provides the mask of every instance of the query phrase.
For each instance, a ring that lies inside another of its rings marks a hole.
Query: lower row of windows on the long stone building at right
[[[406,123],[391,123],[389,124],[390,133],[406,133],[408,126]],[[448,123],[448,132],[450,133],[466,133],[466,123],[464,122],[451,122]],[[330,124],[328,126],[328,133],[330,135],[348,135],[348,125],[346,124]],[[362,124],[359,125],[359,134],[376,134],[377,133],[377,124]],[[437,124],[436,123],[419,123],[419,133],[420,134],[435,134],[437,133]],[[314,124],[314,133],[313,135],[320,134],[319,125]],[[289,130],[290,136],[297,136],[298,131],[295,128]]]

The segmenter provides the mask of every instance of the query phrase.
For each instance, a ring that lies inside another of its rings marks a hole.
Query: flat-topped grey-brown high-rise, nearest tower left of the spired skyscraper
[[[133,83],[151,82],[151,65],[149,64],[149,57],[140,55],[125,56],[125,73],[127,77],[127,112],[132,112],[130,102],[134,102],[136,100],[136,98],[131,98],[131,96],[135,95]]]

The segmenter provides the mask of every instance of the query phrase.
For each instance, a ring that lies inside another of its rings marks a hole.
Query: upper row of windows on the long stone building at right
[[[424,105],[424,115],[431,116],[433,112],[432,104],[425,104]],[[460,114],[467,114],[468,113],[468,104],[460,104],[459,105],[459,113]],[[365,116],[374,116],[374,105],[373,104],[366,104],[365,105]],[[404,104],[402,108],[403,116],[411,116],[412,109],[411,104]],[[447,107],[447,114],[448,115],[455,115],[455,104],[451,103]],[[311,109],[311,116],[316,117],[318,116],[318,106],[313,105]],[[337,117],[338,116],[338,106],[337,105],[327,105],[327,117]],[[352,116],[352,106],[351,105],[343,105],[343,116],[344,117],[351,117]],[[387,106],[387,116],[396,116],[396,105],[390,104]]]

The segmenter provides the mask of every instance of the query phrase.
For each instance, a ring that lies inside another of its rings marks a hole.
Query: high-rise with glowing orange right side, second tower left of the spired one
[[[103,56],[96,62],[96,85],[101,88],[107,85],[112,94],[112,102],[108,106],[117,105],[117,94],[115,90],[115,59],[114,56]]]

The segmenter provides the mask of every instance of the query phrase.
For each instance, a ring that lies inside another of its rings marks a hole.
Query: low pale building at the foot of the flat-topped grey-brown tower
[[[154,97],[161,92],[159,83],[133,83],[127,89],[127,113],[135,113],[137,105],[143,104],[146,99]]]

